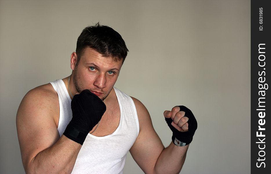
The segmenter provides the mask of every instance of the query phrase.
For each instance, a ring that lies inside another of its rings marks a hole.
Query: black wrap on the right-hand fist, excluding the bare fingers
[[[179,106],[180,111],[185,112],[185,117],[188,117],[188,131],[180,132],[176,128],[171,125],[172,119],[165,118],[169,128],[171,129],[172,135],[172,142],[177,146],[185,146],[192,142],[193,135],[198,127],[197,120],[194,117],[192,111],[185,106]]]

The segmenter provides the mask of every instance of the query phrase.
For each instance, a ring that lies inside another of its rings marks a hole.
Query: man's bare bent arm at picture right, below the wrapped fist
[[[145,173],[179,173],[185,161],[188,145],[176,146],[171,142],[165,148],[154,131],[148,110],[139,100],[134,98],[133,100],[139,118],[140,132],[130,149],[132,157]]]

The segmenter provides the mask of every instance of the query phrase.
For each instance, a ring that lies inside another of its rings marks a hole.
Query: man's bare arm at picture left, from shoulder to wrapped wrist
[[[29,91],[16,117],[17,133],[26,173],[71,173],[81,144],[59,138],[55,114],[57,94],[50,84]]]

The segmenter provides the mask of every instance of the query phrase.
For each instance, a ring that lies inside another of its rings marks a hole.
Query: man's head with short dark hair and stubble
[[[74,92],[89,89],[105,99],[117,81],[127,52],[121,35],[112,28],[99,23],[86,27],[71,55]]]

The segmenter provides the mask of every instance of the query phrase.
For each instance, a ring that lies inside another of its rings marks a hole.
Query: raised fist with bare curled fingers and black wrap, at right
[[[185,146],[192,142],[198,124],[190,109],[175,106],[171,111],[165,110],[164,117],[173,133],[172,142],[175,145]]]

